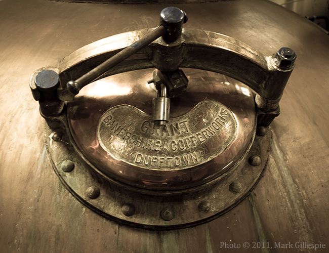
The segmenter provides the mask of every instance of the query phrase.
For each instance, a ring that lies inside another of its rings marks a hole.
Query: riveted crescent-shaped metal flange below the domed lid
[[[65,187],[81,203],[108,219],[156,230],[207,222],[238,204],[258,182],[271,143],[269,131],[256,135],[238,165],[195,189],[153,191],[104,175],[80,153],[68,129],[63,114],[49,120],[45,130],[51,163]]]

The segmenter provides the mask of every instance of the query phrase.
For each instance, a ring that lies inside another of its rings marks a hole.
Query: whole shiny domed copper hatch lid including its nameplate
[[[81,152],[109,177],[141,188],[184,189],[225,173],[255,134],[252,93],[217,73],[184,71],[189,86],[172,99],[165,126],[151,121],[157,93],[147,83],[152,69],[108,77],[81,90],[67,107]]]

